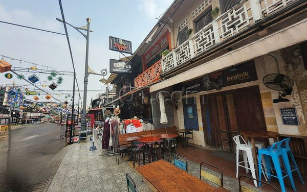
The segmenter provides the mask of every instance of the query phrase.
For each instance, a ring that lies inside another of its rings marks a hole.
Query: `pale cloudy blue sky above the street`
[[[135,51],[157,23],[156,17],[163,14],[171,3],[172,0],[63,0],[62,6],[65,20],[73,26],[84,26],[86,25],[86,18],[91,18],[90,29],[94,32],[90,34],[89,66],[96,73],[100,73],[101,69],[105,68],[109,71],[109,59],[122,57],[118,52],[108,50],[109,36],[130,40],[133,51]],[[59,3],[56,0],[0,0],[0,21],[65,33],[63,24],[57,21],[56,17],[61,18]],[[86,40],[75,29],[70,26],[67,26],[67,28],[79,88],[83,90]],[[0,29],[0,55],[48,66],[47,68],[37,65],[38,69],[73,71],[68,43],[64,35],[21,28],[1,22]],[[11,63],[13,67],[29,68],[32,66],[32,64],[26,62],[4,59]],[[26,78],[32,75],[32,73],[21,74]],[[62,76],[63,83],[55,91],[51,91],[48,86],[52,81],[41,83],[47,81],[48,75],[36,75],[40,79],[36,83],[40,88],[46,89],[50,93],[53,92],[54,97],[61,101],[68,100],[70,102],[70,98],[65,99],[69,92],[60,90],[72,90],[73,77]],[[108,76],[109,72],[105,78]],[[90,104],[91,98],[95,99],[99,93],[105,92],[105,85],[99,82],[101,78],[102,76],[89,76],[87,90],[97,91],[87,92],[87,105]],[[17,79],[14,74],[12,79],[6,79],[4,73],[0,74],[0,85],[12,84],[13,81],[18,85],[28,84],[24,80]],[[47,87],[42,87],[42,84],[47,84]],[[21,90],[26,87],[29,90],[34,90],[33,86],[24,86]],[[57,93],[60,92],[62,94],[58,97]],[[80,94],[83,101],[83,92],[80,92]],[[33,100],[33,95],[26,98]],[[39,99],[39,101],[46,101],[45,95],[40,95]]]

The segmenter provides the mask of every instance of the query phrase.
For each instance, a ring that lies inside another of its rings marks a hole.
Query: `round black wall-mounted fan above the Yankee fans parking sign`
[[[264,82],[268,88],[276,91],[283,91],[283,93],[288,95],[291,94],[294,85],[293,80],[283,74],[268,74],[262,79],[262,82]]]

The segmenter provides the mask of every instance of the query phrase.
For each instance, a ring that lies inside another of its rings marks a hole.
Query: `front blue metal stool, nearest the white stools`
[[[258,158],[259,159],[258,160],[259,180],[261,180],[262,174],[268,175],[269,180],[271,180],[271,176],[276,177],[279,180],[279,184],[280,184],[282,192],[286,192],[286,188],[284,187],[283,179],[286,178],[286,177],[289,177],[292,189],[296,191],[294,181],[293,181],[292,172],[287,169],[287,167],[290,167],[289,159],[288,159],[288,162],[284,162],[284,158],[283,158],[283,155],[282,155],[282,152],[281,152],[282,143],[283,143],[283,141],[278,141],[278,142],[275,142],[271,146],[271,148],[259,149],[259,151],[258,151],[258,156],[259,156],[259,158]],[[267,173],[265,173],[261,169],[261,157],[262,157],[262,155],[265,155],[266,165],[268,166],[267,167]],[[284,172],[284,171],[281,170],[279,157],[281,157],[281,159],[283,160],[283,165],[284,165],[284,167],[286,167],[287,172]],[[274,164],[275,172],[276,172],[277,176],[271,175],[271,159],[273,160],[273,164]],[[282,175],[282,173],[284,173],[284,175]],[[259,182],[259,186],[260,185],[261,185],[261,183]]]

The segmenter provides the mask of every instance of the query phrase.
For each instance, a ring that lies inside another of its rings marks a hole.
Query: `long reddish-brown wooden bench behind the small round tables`
[[[176,131],[176,126],[172,126],[172,127],[167,127],[167,133],[174,133]],[[165,132],[165,128],[160,128],[160,129],[152,129],[151,133],[164,133]],[[141,135],[147,135],[150,134],[150,131],[141,131],[141,132],[135,132],[135,133],[126,133],[126,134],[120,134],[119,135],[119,145],[120,146],[130,146],[131,143],[130,142],[126,142],[125,140],[123,140],[123,138],[126,137],[134,137],[134,136],[141,136]]]

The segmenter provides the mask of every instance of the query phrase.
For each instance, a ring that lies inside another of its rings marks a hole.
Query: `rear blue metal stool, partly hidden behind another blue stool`
[[[291,172],[294,172],[296,171],[298,177],[299,177],[299,180],[302,184],[304,184],[304,181],[302,179],[302,176],[298,170],[298,167],[297,167],[297,164],[296,164],[296,161],[294,159],[294,156],[293,156],[293,153],[291,151],[291,148],[290,148],[290,137],[289,138],[285,138],[282,140],[282,142],[284,143],[284,145],[281,146],[281,153],[282,153],[282,158],[284,161],[288,161],[288,163],[286,163],[286,165],[288,164],[289,167],[287,167],[287,169],[289,169],[289,171]],[[289,158],[288,158],[288,155],[290,156],[291,160],[292,160],[292,163],[293,163],[293,166],[290,164],[289,162]]]

